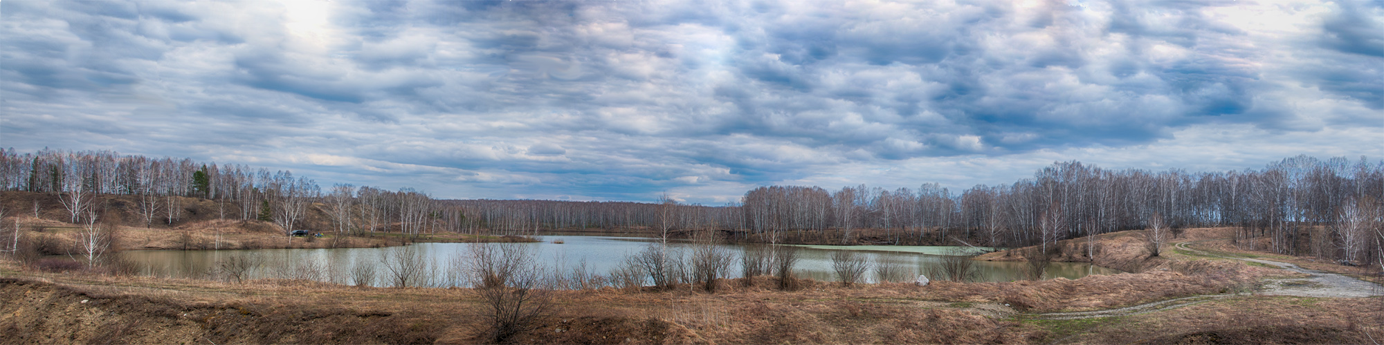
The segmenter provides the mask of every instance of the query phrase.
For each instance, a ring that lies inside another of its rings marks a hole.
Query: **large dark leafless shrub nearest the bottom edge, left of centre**
[[[533,330],[552,312],[551,290],[529,246],[520,243],[473,244],[471,284],[483,302],[477,333],[502,344]]]

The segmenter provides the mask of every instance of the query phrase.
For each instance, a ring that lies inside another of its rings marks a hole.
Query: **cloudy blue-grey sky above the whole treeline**
[[[439,199],[1384,157],[1384,1],[0,1],[0,146]]]

